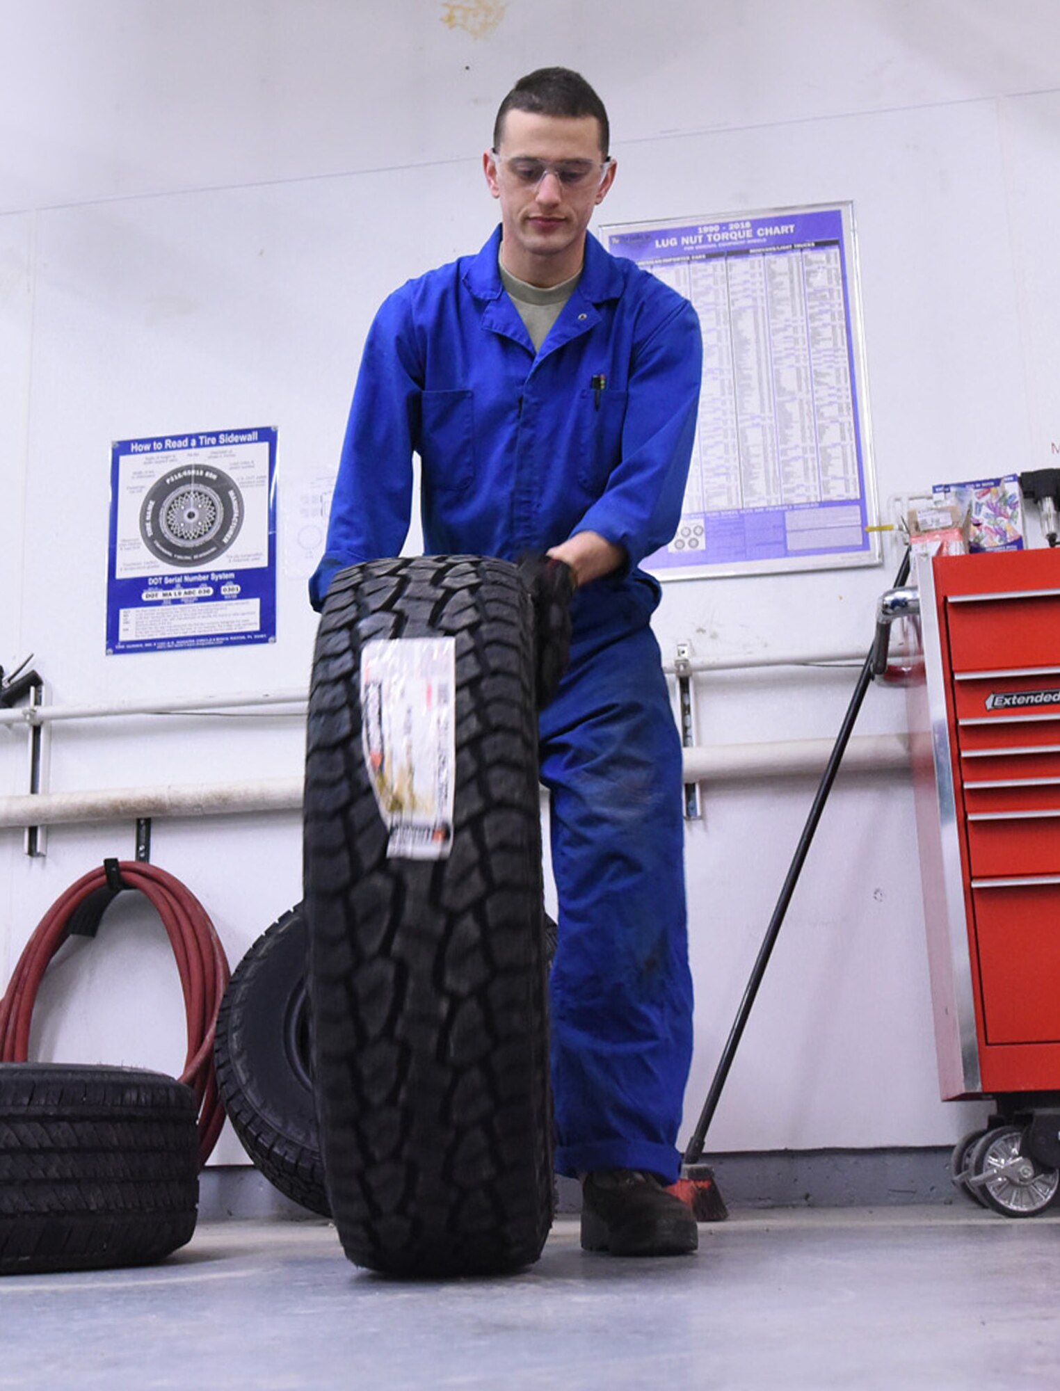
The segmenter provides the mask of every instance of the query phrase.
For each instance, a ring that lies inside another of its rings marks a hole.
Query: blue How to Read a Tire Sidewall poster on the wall
[[[275,641],[275,430],[111,448],[107,652]]]

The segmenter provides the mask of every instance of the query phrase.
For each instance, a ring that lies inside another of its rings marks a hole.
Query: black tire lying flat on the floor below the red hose
[[[198,1113],[159,1072],[0,1063],[0,1274],[147,1266],[189,1241]]]

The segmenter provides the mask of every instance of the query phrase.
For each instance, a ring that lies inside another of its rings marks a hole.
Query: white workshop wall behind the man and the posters
[[[452,21],[452,22],[447,22]],[[463,26],[462,26],[463,25]],[[543,63],[608,102],[602,221],[853,199],[879,494],[1053,462],[1060,440],[1060,25],[1050,0],[0,0],[0,662],[51,698],[299,686],[314,618],[284,565],[299,487],[334,467],[360,342],[394,284],[488,235],[499,97]],[[278,641],[106,657],[111,440],[280,430]],[[885,569],[670,586],[668,655],[867,647]],[[708,743],[835,733],[853,673],[711,677]],[[869,693],[860,732],[901,729]],[[281,716],[61,726],[61,789],[296,775]],[[24,790],[0,730],[0,786]],[[708,789],[689,829],[698,992],[689,1123],[808,810],[810,780]],[[131,825],[0,833],[0,972]],[[299,897],[299,823],[159,822],[153,858],[235,964]],[[179,1071],[182,1006],[136,904],[64,953],[40,1057]],[[978,1114],[977,1111],[972,1111]],[[907,779],[840,778],[711,1145],[942,1143]],[[218,1159],[241,1155],[227,1136]]]

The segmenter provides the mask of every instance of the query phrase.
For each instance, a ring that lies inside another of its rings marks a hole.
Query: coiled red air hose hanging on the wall
[[[164,869],[140,860],[106,860],[51,904],[18,958],[0,1000],[0,1061],[28,1060],[29,1024],[49,963],[70,936],[95,936],[104,911],[124,889],[136,889],[150,900],[177,958],[188,1017],[188,1056],[179,1081],[191,1086],[199,1102],[202,1167],[224,1125],[213,1067],[213,1035],[228,983],[228,960],[203,906]]]

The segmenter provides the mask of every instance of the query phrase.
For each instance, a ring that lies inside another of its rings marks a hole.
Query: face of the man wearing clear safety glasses
[[[615,178],[613,163],[602,168],[600,122],[593,115],[509,111],[497,153],[499,159],[484,154],[483,167],[490,192],[501,202],[505,270],[543,287],[576,275],[593,209],[602,203]],[[527,184],[519,171],[534,160],[568,170],[590,164],[593,170],[579,186],[565,184],[552,170]]]

